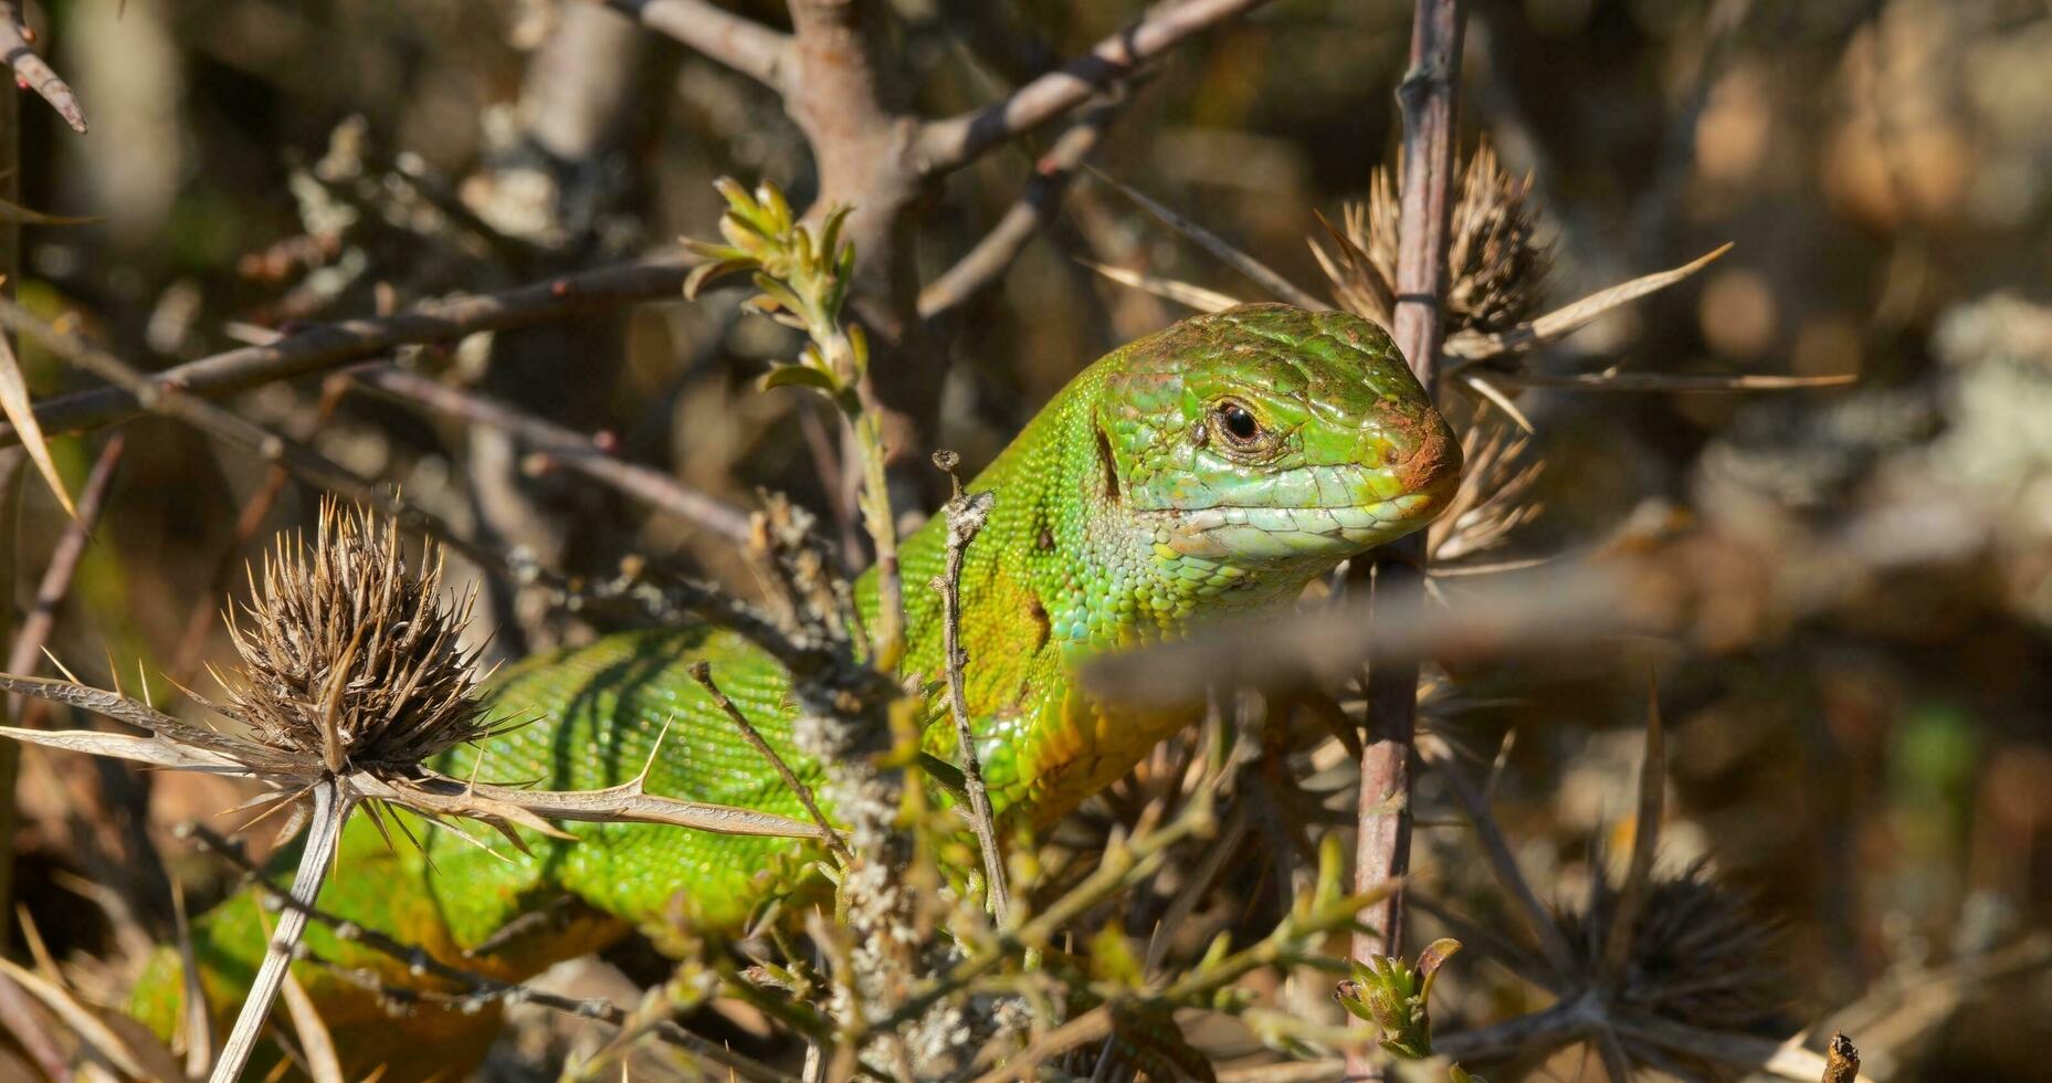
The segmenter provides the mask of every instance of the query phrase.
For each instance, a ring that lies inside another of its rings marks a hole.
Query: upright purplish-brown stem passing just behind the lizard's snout
[[[1412,16],[1410,72],[1397,86],[1404,113],[1404,185],[1397,232],[1395,326],[1391,336],[1426,394],[1438,388],[1445,334],[1447,232],[1455,187],[1455,123],[1461,90],[1461,0],[1418,0]],[[1373,560],[1375,624],[1410,624],[1424,587],[1426,537],[1385,546]],[[1393,603],[1393,605],[1391,605]],[[1379,658],[1369,667],[1369,736],[1360,755],[1354,890],[1402,880],[1410,870],[1410,757],[1418,726],[1416,658]],[[1404,950],[1404,892],[1393,890],[1360,913],[1373,931],[1354,933],[1354,958]],[[1541,933],[1543,935],[1543,933]],[[1557,935],[1557,931],[1555,931]],[[1551,952],[1549,952],[1551,954]],[[1365,1019],[1350,1019],[1365,1024]],[[1348,1071],[1381,1079],[1367,1046],[1350,1050]]]

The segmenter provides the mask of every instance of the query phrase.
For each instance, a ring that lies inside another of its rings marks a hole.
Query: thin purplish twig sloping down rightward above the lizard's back
[[[542,451],[550,464],[603,482],[683,523],[708,529],[728,542],[747,542],[749,515],[726,500],[687,488],[669,474],[624,462],[595,439],[540,418],[509,402],[488,398],[392,365],[369,365],[349,373],[357,384],[400,402],[427,406],[468,423],[488,425]]]

